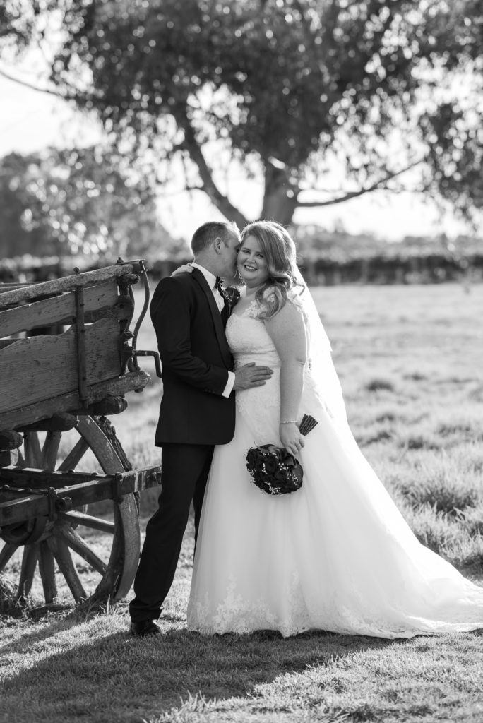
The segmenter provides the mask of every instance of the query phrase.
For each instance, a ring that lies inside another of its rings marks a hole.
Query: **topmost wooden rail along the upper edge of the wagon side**
[[[62,294],[64,291],[72,291],[79,286],[90,286],[93,283],[108,281],[132,273],[133,270],[132,264],[105,266],[102,269],[85,271],[85,273],[72,274],[71,276],[56,278],[53,281],[43,281],[13,291],[5,291],[4,294],[0,294],[0,309],[7,309],[7,307],[20,304],[21,301],[38,299],[39,296]]]

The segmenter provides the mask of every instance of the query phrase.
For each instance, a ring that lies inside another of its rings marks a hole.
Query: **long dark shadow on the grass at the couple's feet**
[[[127,626],[111,632],[114,625],[119,628],[119,616],[80,620],[76,612],[4,646],[2,656],[24,649],[33,660],[5,681],[0,711],[12,714],[21,690],[22,716],[16,719],[22,723],[67,714],[78,722],[140,721],[189,696],[245,698],[279,676],[406,642],[322,631],[292,638],[273,631],[208,637],[172,628],[140,640]]]

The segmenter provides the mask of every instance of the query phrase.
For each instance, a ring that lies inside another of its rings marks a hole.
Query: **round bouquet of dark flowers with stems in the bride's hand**
[[[307,435],[317,420],[304,414],[299,430]],[[302,487],[304,471],[299,460],[284,447],[260,445],[247,452],[247,470],[252,482],[268,495],[286,495]]]

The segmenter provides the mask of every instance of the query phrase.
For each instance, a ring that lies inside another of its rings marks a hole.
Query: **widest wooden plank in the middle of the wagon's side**
[[[87,384],[119,377],[119,322],[86,326],[85,348]],[[75,329],[16,341],[0,350],[0,369],[0,414],[77,390]]]

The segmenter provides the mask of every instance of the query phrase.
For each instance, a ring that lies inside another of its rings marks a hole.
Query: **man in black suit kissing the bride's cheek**
[[[228,297],[220,277],[236,270],[240,234],[231,223],[205,223],[195,231],[192,273],[161,279],[150,305],[163,364],[163,397],[155,434],[162,447],[159,508],[146,526],[129,604],[131,632],[160,632],[157,620],[173,582],[189,507],[195,508],[195,544],[214,445],[235,430],[234,390],[265,384],[268,367],[233,371],[225,337]]]

